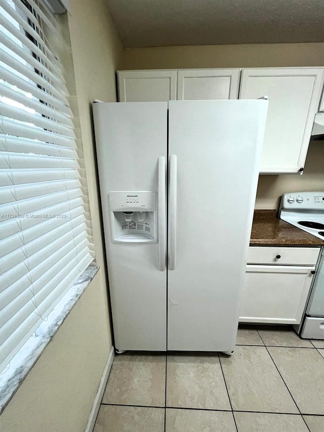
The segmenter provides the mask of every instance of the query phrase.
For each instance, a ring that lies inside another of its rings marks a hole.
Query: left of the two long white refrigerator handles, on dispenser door
[[[158,158],[158,193],[157,193],[157,219],[158,219],[158,268],[166,269],[166,159]]]

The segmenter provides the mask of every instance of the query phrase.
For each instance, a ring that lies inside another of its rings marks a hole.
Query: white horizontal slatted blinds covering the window
[[[55,18],[33,0],[0,0],[0,16],[2,370],[94,254],[78,119],[43,28]]]

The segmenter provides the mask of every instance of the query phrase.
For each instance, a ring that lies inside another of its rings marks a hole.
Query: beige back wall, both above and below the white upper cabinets
[[[324,43],[210,45],[125,50],[121,69],[324,66]],[[324,142],[311,143],[304,174],[261,175],[256,208],[277,208],[284,192],[323,190]]]

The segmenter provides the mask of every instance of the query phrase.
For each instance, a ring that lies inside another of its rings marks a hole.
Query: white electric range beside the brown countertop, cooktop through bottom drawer
[[[280,219],[324,240],[324,192],[292,192],[281,197]],[[316,264],[305,316],[294,326],[302,338],[324,339],[324,248]]]

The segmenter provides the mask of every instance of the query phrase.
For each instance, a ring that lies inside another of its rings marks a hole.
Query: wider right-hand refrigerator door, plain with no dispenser
[[[170,101],[169,350],[234,349],[267,105]]]

